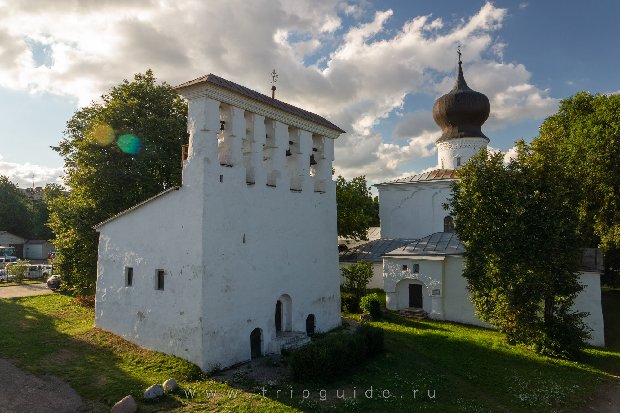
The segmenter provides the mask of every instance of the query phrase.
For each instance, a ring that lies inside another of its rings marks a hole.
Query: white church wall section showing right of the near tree
[[[591,345],[604,347],[605,337],[603,330],[603,308],[601,307],[601,275],[594,272],[584,272],[579,277],[579,283],[585,285],[583,291],[575,298],[573,311],[590,313],[583,321],[593,329]]]

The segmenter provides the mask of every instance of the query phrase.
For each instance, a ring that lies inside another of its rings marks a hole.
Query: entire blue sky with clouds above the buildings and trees
[[[312,110],[347,134],[337,172],[372,183],[433,168],[430,111],[454,81],[491,100],[483,130],[508,150],[557,101],[620,91],[618,2],[0,0],[0,174],[59,182],[49,147],[80,105],[138,71],[170,84],[218,76]]]

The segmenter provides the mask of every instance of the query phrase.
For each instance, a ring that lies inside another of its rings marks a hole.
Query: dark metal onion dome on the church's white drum
[[[443,135],[435,143],[454,138],[489,140],[480,127],[489,118],[490,110],[489,98],[480,92],[472,91],[467,86],[459,61],[459,74],[454,87],[433,105],[433,119],[443,131]]]

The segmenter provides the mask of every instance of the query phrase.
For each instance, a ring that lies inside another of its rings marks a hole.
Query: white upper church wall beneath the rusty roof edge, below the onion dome
[[[449,215],[441,204],[450,193],[450,181],[377,187],[381,238],[423,238],[443,231],[443,218]]]

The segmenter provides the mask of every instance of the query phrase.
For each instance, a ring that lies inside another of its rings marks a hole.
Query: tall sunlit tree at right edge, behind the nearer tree
[[[580,92],[560,100],[529,149],[570,171],[585,246],[604,248],[602,280],[620,286],[620,95]]]

